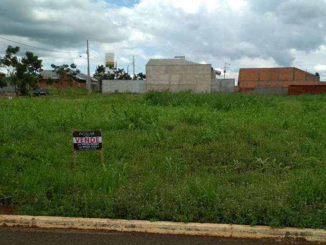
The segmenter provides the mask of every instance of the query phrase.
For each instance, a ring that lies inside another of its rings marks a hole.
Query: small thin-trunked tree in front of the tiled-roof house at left
[[[63,81],[66,81],[69,87],[71,87],[72,83],[77,80],[76,76],[80,72],[80,70],[77,69],[77,66],[74,63],[72,63],[71,65],[51,64],[51,67],[53,68],[53,72],[55,72],[59,77],[59,79],[56,81],[56,83],[58,83],[57,86],[58,94],[61,93],[61,87]]]

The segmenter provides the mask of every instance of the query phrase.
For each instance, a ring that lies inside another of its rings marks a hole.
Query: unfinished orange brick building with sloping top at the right
[[[290,85],[320,85],[319,77],[295,67],[241,68],[238,91],[287,94]]]

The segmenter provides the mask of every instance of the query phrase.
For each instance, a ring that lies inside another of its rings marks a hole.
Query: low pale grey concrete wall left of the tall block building
[[[102,80],[102,93],[145,93],[144,80]]]

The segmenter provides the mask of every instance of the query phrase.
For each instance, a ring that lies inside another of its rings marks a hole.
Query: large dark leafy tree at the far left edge
[[[37,86],[38,74],[42,70],[42,60],[38,56],[34,56],[32,52],[26,52],[25,57],[21,61],[16,54],[20,51],[18,46],[8,46],[6,55],[0,57],[0,65],[8,71],[9,77],[6,83],[15,89],[16,97],[27,91],[27,86],[32,88]]]

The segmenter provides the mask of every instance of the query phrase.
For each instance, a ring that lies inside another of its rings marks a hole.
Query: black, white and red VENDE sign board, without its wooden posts
[[[75,131],[72,137],[74,151],[102,150],[101,131]]]

